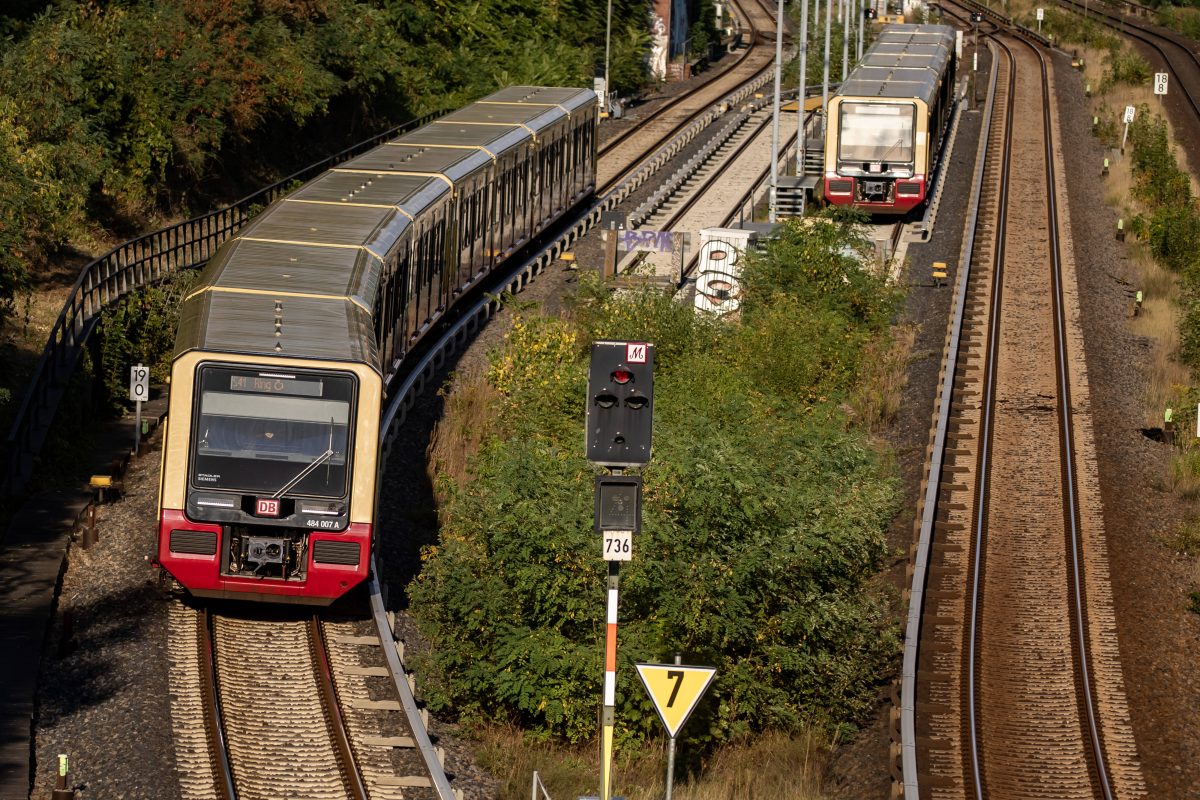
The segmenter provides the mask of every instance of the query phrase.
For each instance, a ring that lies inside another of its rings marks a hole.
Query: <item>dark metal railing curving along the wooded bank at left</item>
[[[418,128],[445,112],[427,114],[352,145],[320,162],[305,167],[233,205],[144,234],[120,245],[83,267],[42,348],[20,408],[13,419],[2,458],[0,499],[24,492],[34,471],[34,461],[46,443],[59,401],[79,362],[88,337],[106,306],[130,291],[162,281],[179,270],[208,261],[227,239],[258,211],[290,191],[343,161]]]

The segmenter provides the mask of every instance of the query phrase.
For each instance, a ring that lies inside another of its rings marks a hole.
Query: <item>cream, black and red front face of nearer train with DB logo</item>
[[[380,401],[364,365],[180,356],[158,565],[198,597],[329,604],[362,583]]]

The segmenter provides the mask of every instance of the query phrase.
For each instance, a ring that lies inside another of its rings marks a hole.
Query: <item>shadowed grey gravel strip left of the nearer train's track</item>
[[[157,439],[157,437],[156,437]],[[158,450],[134,461],[128,493],[101,506],[98,545],[73,545],[42,655],[34,799],[50,796],[58,753],[80,800],[176,796],[167,688],[167,606],[155,552]]]

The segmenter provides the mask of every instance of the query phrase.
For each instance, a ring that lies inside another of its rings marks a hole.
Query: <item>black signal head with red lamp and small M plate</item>
[[[650,461],[654,345],[595,342],[588,371],[588,461],[634,467]]]

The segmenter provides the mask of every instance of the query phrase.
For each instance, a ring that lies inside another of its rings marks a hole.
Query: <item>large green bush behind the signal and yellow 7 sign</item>
[[[655,416],[620,578],[623,740],[659,729],[632,664],[676,651],[718,668],[690,738],[862,718],[896,650],[868,582],[898,488],[836,402],[893,307],[851,264],[826,227],[797,228],[757,260],[740,323],[587,282],[571,321],[518,315],[488,372],[504,433],[451,491],[409,589],[433,645],[418,663],[433,709],[595,734],[606,570],[583,397],[589,343],[628,338],[655,343]]]

